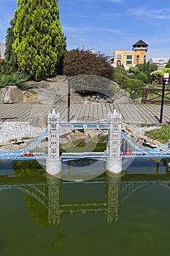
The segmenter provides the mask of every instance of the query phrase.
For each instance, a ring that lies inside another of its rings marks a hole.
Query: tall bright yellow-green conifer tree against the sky
[[[14,22],[13,48],[20,68],[35,80],[52,75],[66,45],[58,0],[18,0]]]

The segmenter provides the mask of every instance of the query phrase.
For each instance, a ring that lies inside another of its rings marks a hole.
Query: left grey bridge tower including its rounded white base
[[[61,173],[61,157],[60,157],[60,115],[52,113],[47,116],[48,126],[48,156],[46,159],[46,172],[50,175]]]

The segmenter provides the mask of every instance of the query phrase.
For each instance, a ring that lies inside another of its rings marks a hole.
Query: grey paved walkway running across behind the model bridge
[[[0,104],[0,123],[7,121],[29,121],[34,116],[47,115],[53,108],[50,105],[36,104]],[[70,108],[70,121],[107,121],[108,112],[112,112],[112,104],[75,104]],[[161,105],[117,105],[122,113],[123,121],[128,124],[142,126],[159,125]],[[67,121],[66,105],[57,105],[55,110],[61,114],[61,120]],[[170,105],[163,107],[163,124],[169,123]]]

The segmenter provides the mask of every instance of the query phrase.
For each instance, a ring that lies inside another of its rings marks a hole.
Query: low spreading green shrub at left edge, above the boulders
[[[0,88],[4,86],[18,86],[21,90],[28,89],[26,81],[30,78],[30,75],[25,72],[15,72],[9,75],[0,75]]]

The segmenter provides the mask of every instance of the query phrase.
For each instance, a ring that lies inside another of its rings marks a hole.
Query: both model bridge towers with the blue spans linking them
[[[52,113],[47,116],[48,127],[48,156],[46,159],[46,172],[50,175],[58,175],[62,169],[62,159],[72,158],[72,154],[63,153],[60,156],[60,129],[107,129],[108,142],[105,152],[83,152],[74,153],[74,159],[91,158],[106,159],[106,169],[111,173],[121,173],[122,157],[121,157],[121,128],[122,116],[116,110],[108,114],[109,122],[103,123],[61,123],[59,113]]]

